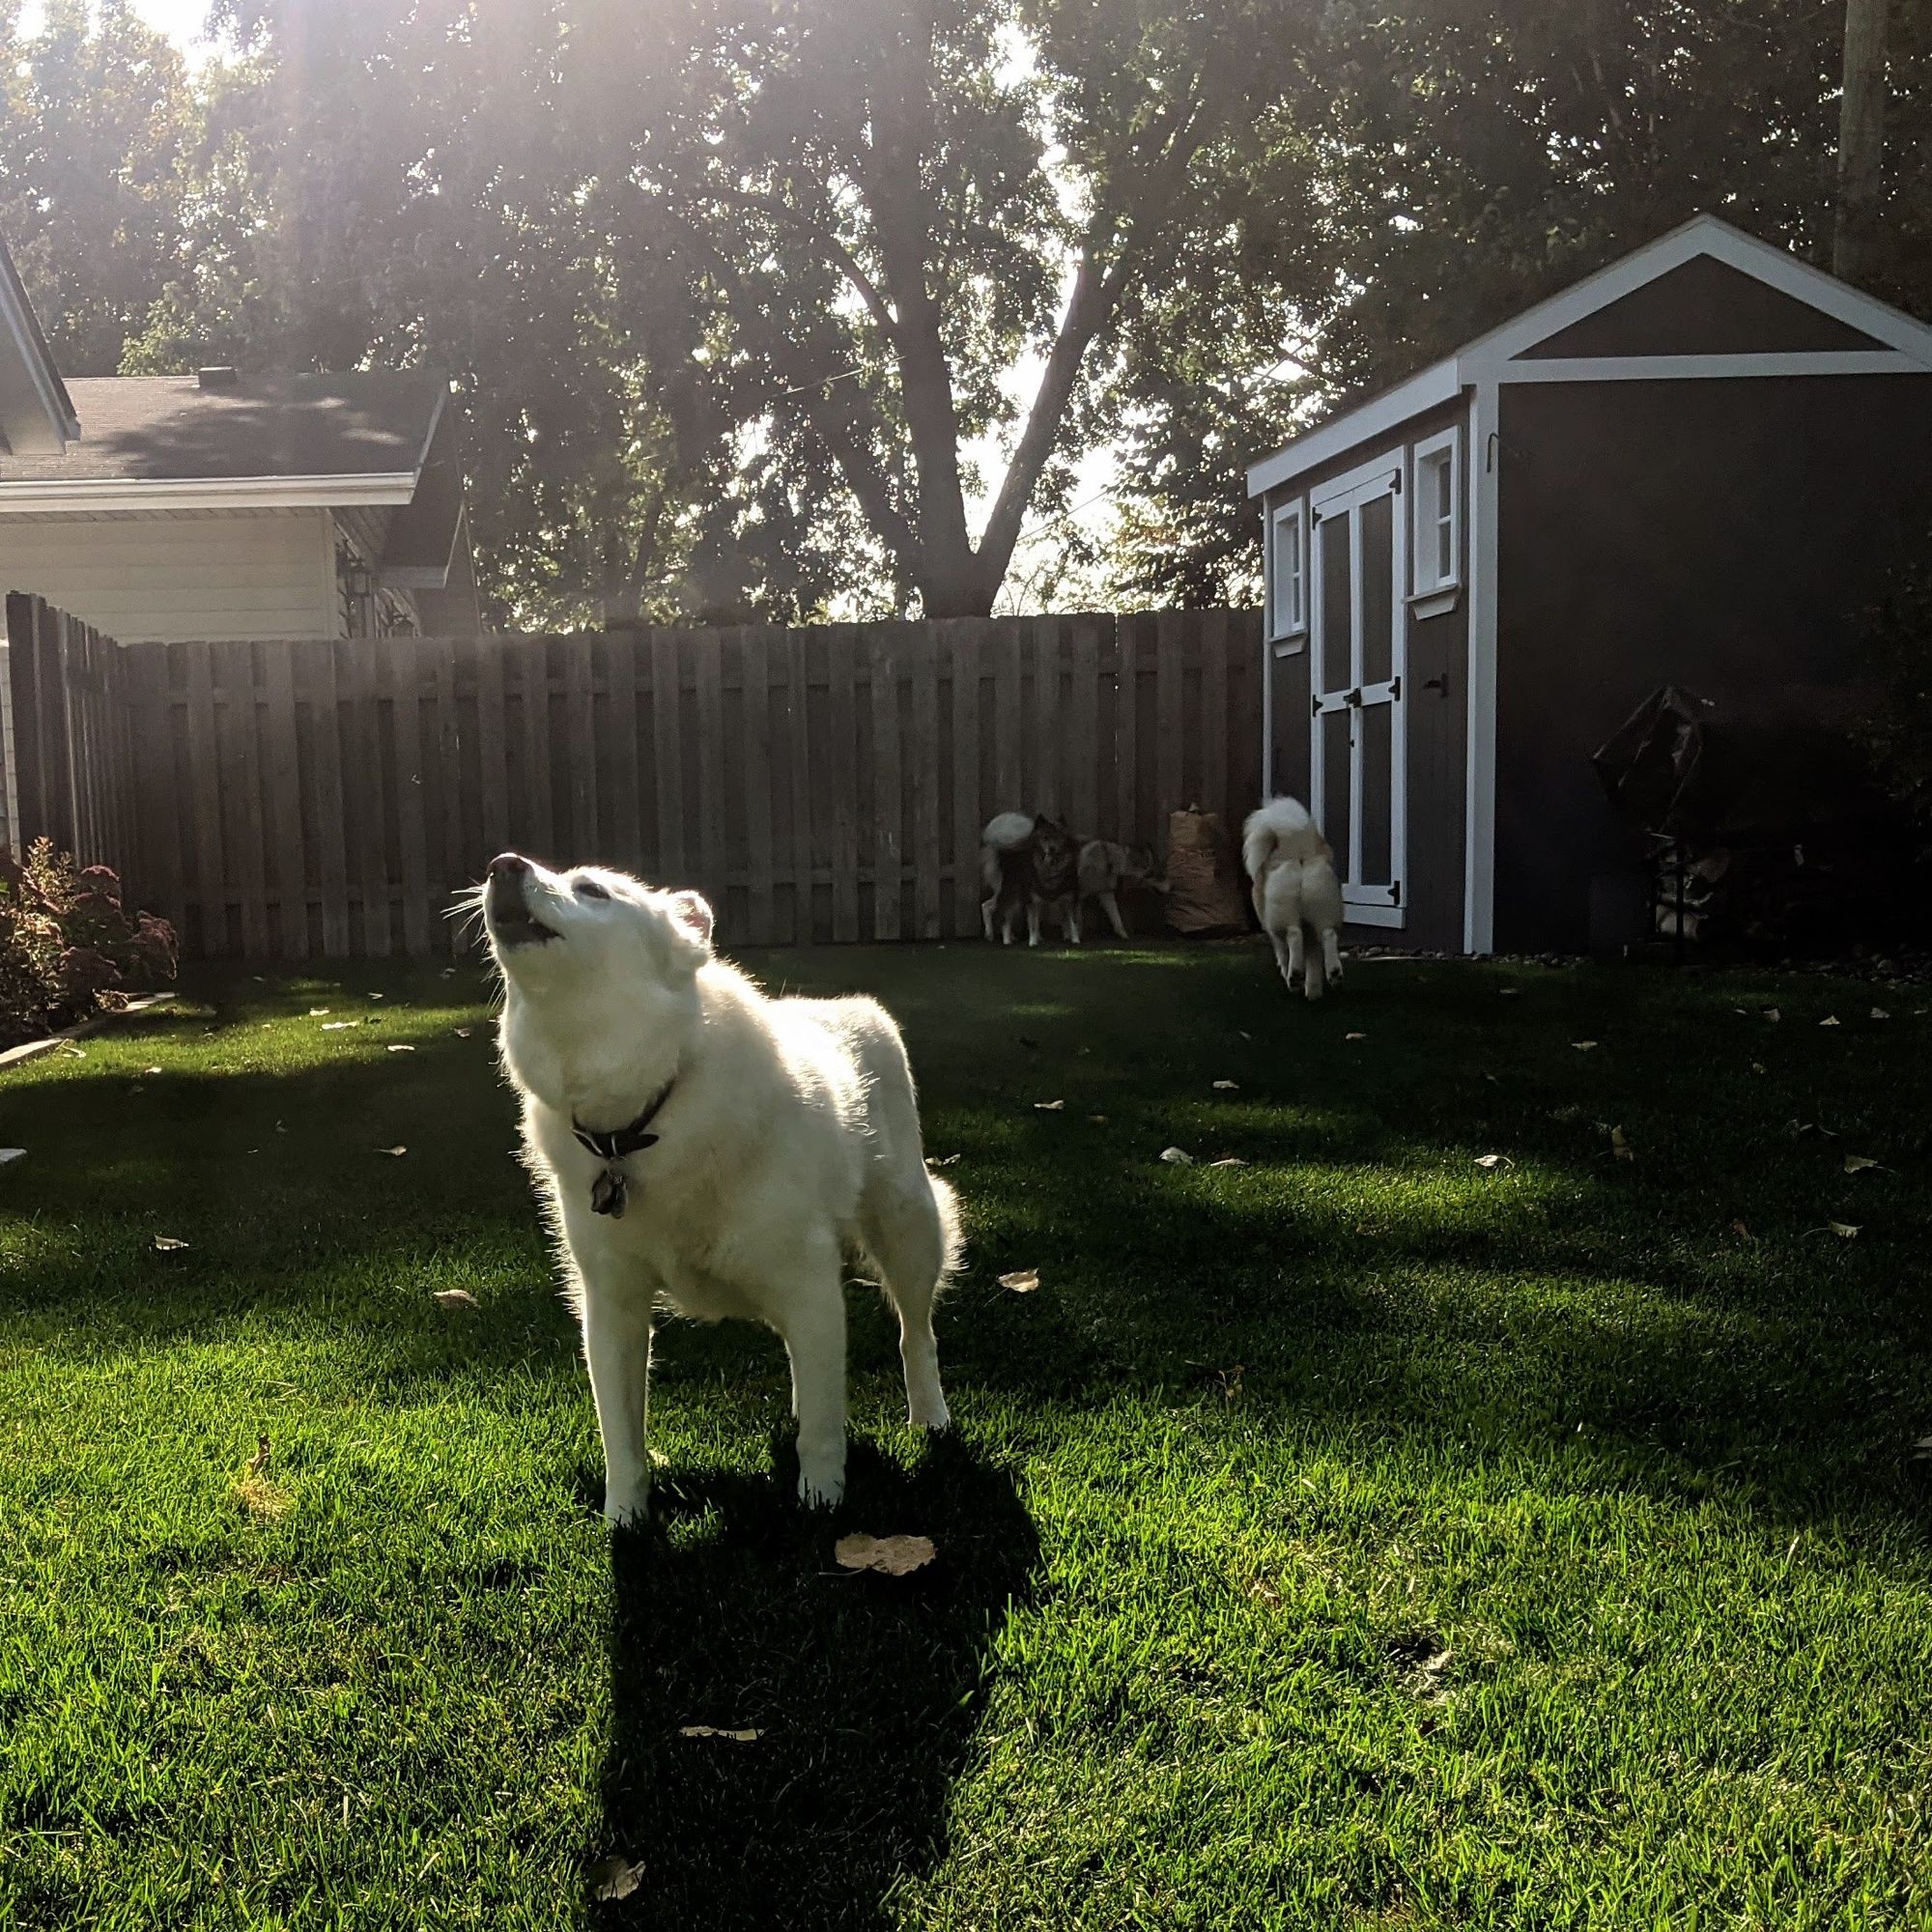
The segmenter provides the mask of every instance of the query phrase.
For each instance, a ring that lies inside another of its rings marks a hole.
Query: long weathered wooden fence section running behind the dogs
[[[1254,612],[118,655],[120,864],[201,956],[448,952],[502,848],[696,885],[728,943],[966,935],[995,811],[1161,844],[1260,784]]]

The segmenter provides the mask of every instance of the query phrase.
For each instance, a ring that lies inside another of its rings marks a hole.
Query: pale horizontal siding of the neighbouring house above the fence
[[[0,516],[0,587],[122,643],[340,630],[327,510]]]

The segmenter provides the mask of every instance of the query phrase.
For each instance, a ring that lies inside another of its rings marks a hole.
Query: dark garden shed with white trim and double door
[[[1590,765],[1658,688],[1828,719],[1932,529],[1932,327],[1716,216],[1248,469],[1264,779],[1352,937],[1582,949],[1629,922]]]

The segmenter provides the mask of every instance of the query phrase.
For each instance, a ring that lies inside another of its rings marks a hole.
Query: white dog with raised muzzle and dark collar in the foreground
[[[605,1449],[605,1515],[645,1515],[651,1312],[784,1337],[798,1493],[844,1493],[844,1262],[898,1310],[912,1422],[947,1426],[933,1296],[958,1254],[925,1171],[906,1049],[869,999],[767,999],[711,951],[711,908],[516,852],[483,889],[502,1065],[570,1264]]]

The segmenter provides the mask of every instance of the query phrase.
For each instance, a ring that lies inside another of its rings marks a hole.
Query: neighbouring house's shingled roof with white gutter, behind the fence
[[[448,400],[427,369],[91,377],[66,454],[0,456],[0,508],[408,502]]]

